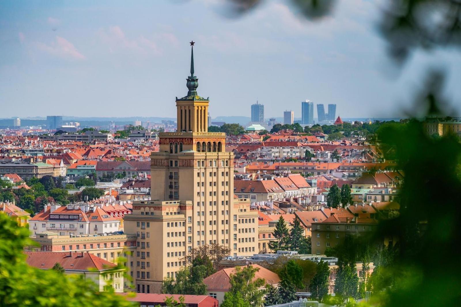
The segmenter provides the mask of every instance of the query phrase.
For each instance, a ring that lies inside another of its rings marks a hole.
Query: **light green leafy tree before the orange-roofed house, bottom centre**
[[[229,292],[234,295],[242,295],[244,301],[251,306],[262,306],[265,289],[260,289],[266,281],[262,278],[254,279],[259,268],[253,266],[236,266],[234,274],[229,277],[231,289]]]

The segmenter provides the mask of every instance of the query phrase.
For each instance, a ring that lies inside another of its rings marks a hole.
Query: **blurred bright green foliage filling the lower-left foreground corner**
[[[113,289],[100,292],[87,278],[40,270],[27,265],[23,250],[33,245],[29,230],[0,214],[0,306],[5,307],[135,307]],[[117,267],[118,270],[120,267]]]

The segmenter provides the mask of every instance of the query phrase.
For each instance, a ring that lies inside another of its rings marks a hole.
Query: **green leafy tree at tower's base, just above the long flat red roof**
[[[203,283],[205,266],[185,266],[177,272],[176,278],[165,278],[162,293],[205,295],[207,286]]]

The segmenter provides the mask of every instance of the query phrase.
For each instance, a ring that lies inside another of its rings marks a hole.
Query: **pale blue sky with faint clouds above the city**
[[[0,118],[174,117],[190,40],[213,118],[249,116],[256,99],[266,118],[300,117],[306,99],[336,103],[342,117],[402,116],[429,67],[446,71],[446,97],[460,111],[460,53],[419,51],[394,67],[376,30],[382,0],[339,0],[317,22],[289,1],[239,18],[223,2],[1,1]]]

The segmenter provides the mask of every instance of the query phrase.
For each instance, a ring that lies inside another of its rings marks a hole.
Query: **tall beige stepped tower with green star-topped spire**
[[[177,132],[159,133],[159,151],[151,153],[151,201],[134,201],[124,216],[124,231],[138,236],[131,268],[138,292],[160,293],[192,248],[223,244],[235,256],[258,250],[258,212],[234,199],[234,154],[225,133],[208,132],[209,100],[197,87],[192,49],[189,91],[176,98]]]

